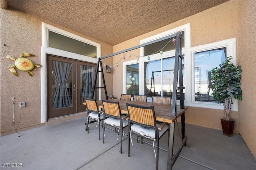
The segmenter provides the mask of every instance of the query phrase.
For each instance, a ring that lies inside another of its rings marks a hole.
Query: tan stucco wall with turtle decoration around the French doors
[[[42,46],[42,21],[58,27],[54,23],[40,20],[34,16],[17,10],[0,9],[0,133],[5,135],[15,132],[16,129],[36,127],[42,124],[40,113],[40,69],[32,71],[31,77],[27,72],[18,69],[18,77],[14,76],[8,69],[8,65],[14,61],[5,56],[19,57],[20,52],[28,52],[36,55],[30,57],[34,63],[40,63],[40,48]],[[112,53],[112,46],[90,37],[78,34],[72,30],[59,27],[65,31],[90,39],[101,45],[101,55]],[[4,44],[6,46],[4,46]],[[112,59],[106,59],[112,63]],[[43,66],[45,67],[45,66]],[[112,93],[112,74],[106,75],[110,80],[106,82],[108,92]],[[102,90],[104,91],[104,90]],[[105,96],[103,92],[102,96]],[[12,125],[12,97],[14,97],[14,125]],[[20,108],[19,103],[26,102],[26,107]]]

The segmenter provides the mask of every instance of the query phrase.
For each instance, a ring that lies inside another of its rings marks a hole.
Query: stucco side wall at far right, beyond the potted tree
[[[238,64],[243,69],[239,133],[256,157],[256,1],[239,1],[238,6]]]

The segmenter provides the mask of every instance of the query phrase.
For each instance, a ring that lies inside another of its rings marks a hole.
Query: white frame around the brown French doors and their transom
[[[96,46],[97,47],[97,59],[92,58],[92,57],[87,57],[84,55],[80,55],[80,54],[76,54],[76,53],[71,53],[68,51],[63,51],[60,49],[48,47],[48,30],[53,31],[58,34],[61,34],[61,35],[64,35],[66,37],[70,37],[72,39],[76,39],[78,41],[82,41],[84,43]],[[76,59],[76,60],[80,60],[80,61],[86,61],[86,62],[90,62],[90,63],[97,63],[98,58],[101,57],[100,56],[100,44],[42,22],[42,47],[41,47],[41,65],[42,65],[42,67],[40,68],[40,72],[41,72],[41,74],[40,74],[40,76],[41,76],[41,123],[47,122],[47,96],[46,96],[46,94],[47,94],[47,83],[46,83],[47,82],[47,77],[46,77],[47,76],[47,72],[46,72],[47,71],[47,62],[46,62],[47,54],[62,56],[62,57],[66,57],[69,59]],[[100,73],[99,73],[99,76],[101,76]],[[101,79],[99,80],[98,84],[99,85],[101,84]],[[101,100],[101,89],[99,91],[100,91],[99,98]]]

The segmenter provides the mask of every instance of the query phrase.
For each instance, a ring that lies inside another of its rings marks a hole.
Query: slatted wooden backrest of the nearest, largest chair
[[[135,123],[140,123],[148,126],[155,126],[155,115],[154,115],[154,107],[152,106],[136,106],[126,104],[128,109],[128,114],[130,121]]]

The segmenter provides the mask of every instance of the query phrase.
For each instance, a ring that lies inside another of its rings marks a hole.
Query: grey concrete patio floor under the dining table
[[[106,129],[105,143],[98,140],[98,127],[90,124],[85,131],[83,118],[20,131],[0,137],[1,170],[154,170],[156,158],[150,141],[141,145],[133,139],[128,152],[128,137],[124,136],[120,154],[120,136]],[[177,127],[179,125],[179,128]],[[103,129],[103,128],[102,128]],[[179,131],[178,131],[179,130]],[[127,134],[128,128],[124,129]],[[175,125],[174,153],[181,144],[180,123]],[[18,137],[20,136],[20,137]],[[186,125],[187,144],[173,170],[256,170],[256,161],[239,134],[233,137],[222,131]],[[160,139],[159,169],[166,169],[168,134]],[[21,165],[22,167],[12,167]],[[10,167],[8,167],[10,166]]]

